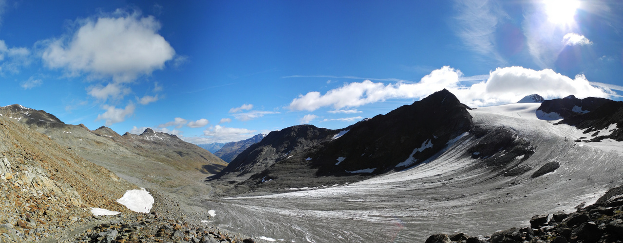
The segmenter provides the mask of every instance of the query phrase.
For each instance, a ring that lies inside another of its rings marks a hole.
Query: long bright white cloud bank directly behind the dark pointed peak
[[[418,83],[373,83],[365,80],[348,83],[340,88],[301,94],[292,100],[288,108],[293,111],[315,111],[331,106],[334,109],[353,108],[386,99],[421,99],[441,89],[449,89],[462,103],[469,106],[514,103],[528,94],[561,98],[574,94],[578,98],[588,96],[609,97],[611,89],[595,87],[583,75],[575,78],[556,73],[553,70],[531,70],[521,66],[497,68],[486,81],[463,86],[460,70],[444,66],[424,76]]]

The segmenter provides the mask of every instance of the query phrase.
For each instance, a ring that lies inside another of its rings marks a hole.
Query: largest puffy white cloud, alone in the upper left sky
[[[77,23],[80,27],[71,36],[48,42],[42,58],[50,68],[128,82],[164,68],[175,56],[173,47],[158,34],[160,23],[153,16],[116,11],[110,17]]]

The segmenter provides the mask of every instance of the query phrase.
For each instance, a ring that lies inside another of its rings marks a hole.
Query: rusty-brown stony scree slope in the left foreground
[[[0,116],[0,187],[0,232],[17,242],[58,239],[91,207],[127,213],[115,200],[136,188],[6,115]]]

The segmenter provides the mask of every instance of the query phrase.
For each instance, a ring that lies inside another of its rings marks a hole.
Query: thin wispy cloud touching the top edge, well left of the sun
[[[493,57],[504,63],[496,46],[495,31],[500,22],[509,16],[497,1],[456,0],[459,15],[455,17],[455,32],[470,50]]]

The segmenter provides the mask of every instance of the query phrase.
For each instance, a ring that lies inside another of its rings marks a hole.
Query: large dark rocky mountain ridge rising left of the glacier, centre
[[[345,129],[301,125],[270,132],[209,181],[237,183],[235,193],[259,190],[268,180],[275,188],[330,185],[402,170],[471,131],[468,109],[444,89]]]

